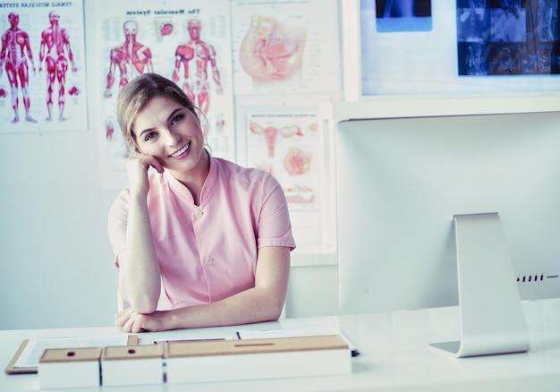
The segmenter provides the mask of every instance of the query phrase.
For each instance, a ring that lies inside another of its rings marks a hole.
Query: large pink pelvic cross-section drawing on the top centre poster
[[[306,40],[302,25],[252,15],[239,51],[242,69],[253,81],[284,81],[301,74]]]

